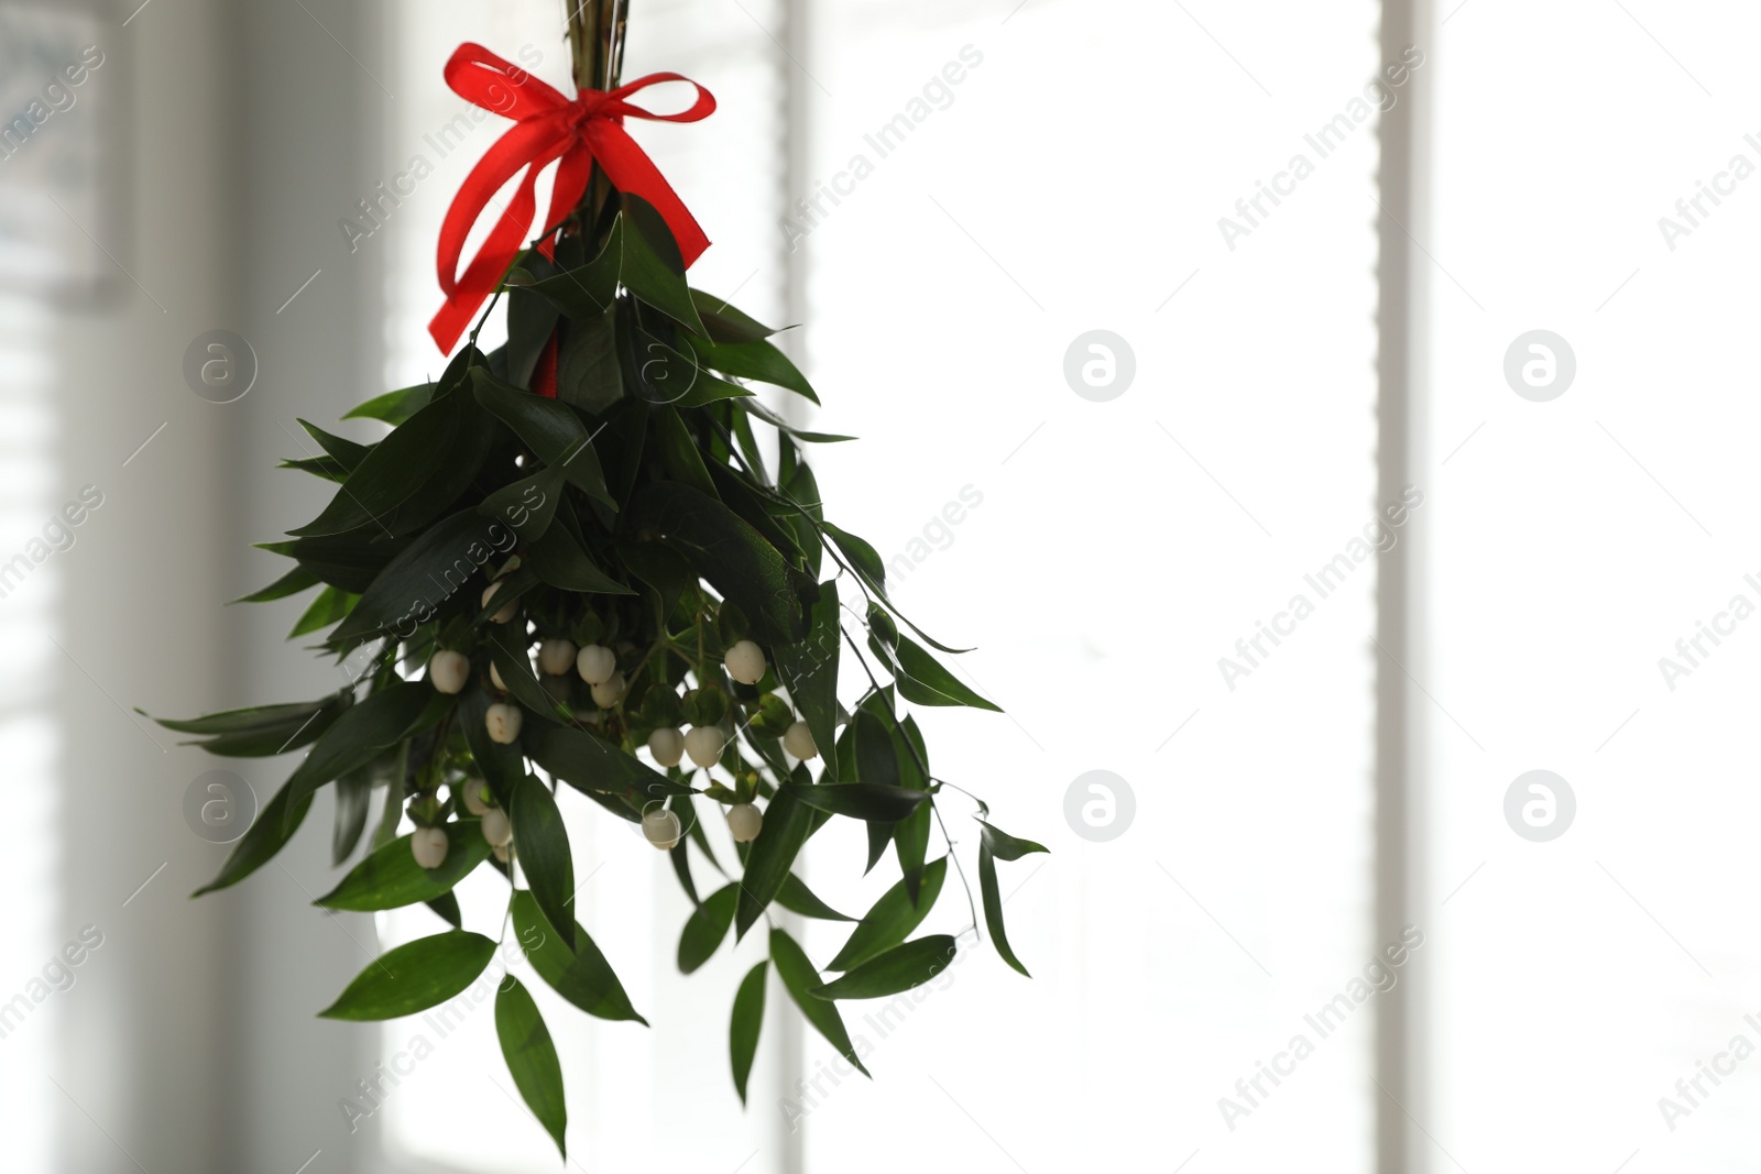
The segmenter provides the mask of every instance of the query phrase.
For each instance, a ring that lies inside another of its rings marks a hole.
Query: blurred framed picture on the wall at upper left
[[[107,4],[0,0],[0,287],[93,301],[125,276],[120,21]]]

